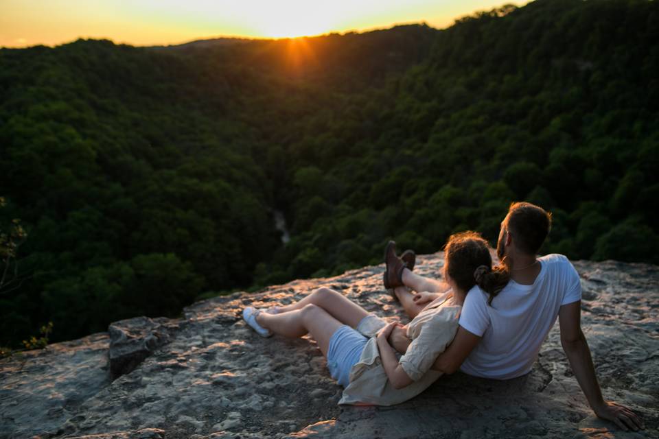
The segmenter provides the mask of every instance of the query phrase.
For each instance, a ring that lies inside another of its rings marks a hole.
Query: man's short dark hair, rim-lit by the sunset
[[[508,209],[506,224],[517,248],[527,254],[537,254],[551,230],[551,213],[527,202],[513,202]]]

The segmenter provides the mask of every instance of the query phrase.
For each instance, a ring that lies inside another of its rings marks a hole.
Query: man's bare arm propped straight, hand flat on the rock
[[[592,365],[590,348],[586,342],[586,336],[581,331],[581,300],[562,305],[558,318],[561,324],[563,351],[570,361],[579,387],[595,414],[599,418],[612,420],[625,431],[629,428],[634,431],[643,428],[643,423],[632,410],[624,405],[604,401],[602,397],[595,368]]]

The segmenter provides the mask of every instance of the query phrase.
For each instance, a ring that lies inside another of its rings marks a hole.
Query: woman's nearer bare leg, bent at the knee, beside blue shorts
[[[325,358],[329,350],[329,339],[342,326],[327,311],[312,303],[285,313],[259,313],[256,321],[262,327],[285,337],[297,338],[310,334]]]

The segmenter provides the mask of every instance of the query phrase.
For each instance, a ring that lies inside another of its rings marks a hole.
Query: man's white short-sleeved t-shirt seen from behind
[[[483,337],[460,370],[476,377],[509,379],[531,371],[561,305],[581,300],[579,274],[562,254],[538,258],[533,285],[510,281],[487,305],[489,294],[474,287],[459,324]]]

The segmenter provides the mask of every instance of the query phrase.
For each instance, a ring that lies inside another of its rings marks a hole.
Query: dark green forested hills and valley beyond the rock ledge
[[[658,71],[647,0],[535,1],[441,31],[1,49],[0,227],[28,236],[0,267],[0,345],[379,263],[388,239],[494,243],[511,200],[553,212],[542,252],[659,263]]]

